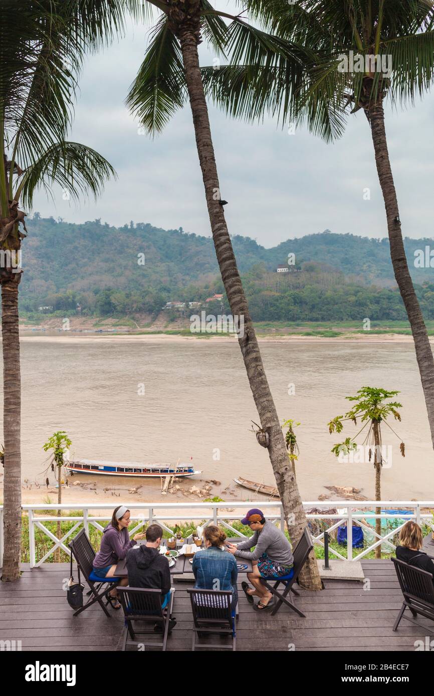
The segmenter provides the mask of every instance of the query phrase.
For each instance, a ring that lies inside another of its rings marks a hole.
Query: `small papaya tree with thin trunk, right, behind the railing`
[[[361,432],[364,431],[366,426],[369,426],[365,438],[364,444],[369,446],[369,461],[372,460],[373,455],[373,467],[375,469],[375,500],[381,500],[381,470],[382,470],[382,434],[381,434],[381,424],[387,425],[390,430],[387,418],[389,416],[394,416],[395,420],[401,420],[398,409],[401,409],[402,404],[397,401],[389,401],[392,397],[399,394],[397,391],[387,391],[386,389],[381,389],[379,387],[362,387],[357,391],[356,396],[347,396],[348,401],[355,402],[352,409],[346,413],[345,418],[343,416],[336,416],[330,420],[328,424],[330,434],[336,432],[340,433],[343,429],[343,421],[351,420],[355,425],[357,425],[357,418],[360,418],[364,426],[357,433],[354,438],[346,438],[345,441],[337,443],[332,448],[333,454],[339,457],[339,454],[349,454],[351,450],[357,449],[357,444],[355,443],[355,438],[359,436]],[[392,432],[396,435],[394,430]],[[399,445],[401,454],[405,457],[405,446],[401,441]],[[375,508],[375,514],[381,514],[381,508]],[[381,518],[377,517],[375,519],[375,532],[377,537],[381,536]],[[381,558],[381,544],[375,546],[375,557]]]

